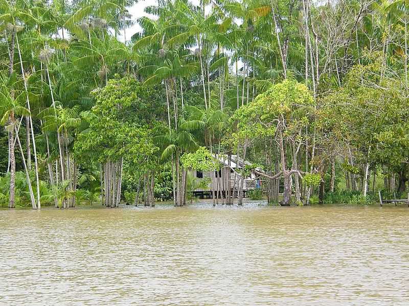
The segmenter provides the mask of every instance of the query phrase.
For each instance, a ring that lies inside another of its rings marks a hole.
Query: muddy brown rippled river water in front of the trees
[[[409,209],[0,210],[1,305],[408,305]]]

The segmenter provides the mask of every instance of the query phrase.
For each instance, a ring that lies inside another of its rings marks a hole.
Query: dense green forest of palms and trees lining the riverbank
[[[405,192],[407,0],[134,3],[0,0],[4,205],[181,206],[216,154],[282,205]]]

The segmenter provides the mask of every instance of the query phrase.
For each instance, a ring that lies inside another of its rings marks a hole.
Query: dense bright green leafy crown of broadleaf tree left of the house
[[[75,144],[79,159],[100,162],[120,157],[133,164],[150,167],[158,148],[152,143],[147,125],[154,118],[149,110],[155,92],[130,78],[113,79],[104,88],[93,91],[96,104],[86,116],[89,129],[78,135]]]

